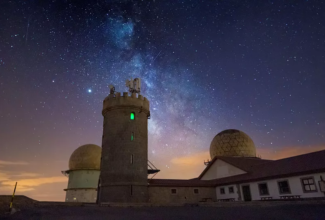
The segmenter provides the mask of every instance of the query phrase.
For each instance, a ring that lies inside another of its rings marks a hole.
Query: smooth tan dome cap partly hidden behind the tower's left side
[[[95,144],[78,147],[70,156],[69,170],[99,170],[102,149]]]

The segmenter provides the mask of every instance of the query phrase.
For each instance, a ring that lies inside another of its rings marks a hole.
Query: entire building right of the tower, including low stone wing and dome
[[[281,160],[255,154],[247,134],[225,130],[212,140],[212,161],[198,178],[149,180],[149,192],[157,203],[324,198],[325,150]],[[159,187],[165,193],[154,198]]]

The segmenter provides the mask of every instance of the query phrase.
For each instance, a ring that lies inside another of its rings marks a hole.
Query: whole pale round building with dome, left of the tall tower
[[[77,148],[69,160],[69,170],[63,171],[69,176],[66,202],[96,202],[100,173],[101,148],[86,144]]]

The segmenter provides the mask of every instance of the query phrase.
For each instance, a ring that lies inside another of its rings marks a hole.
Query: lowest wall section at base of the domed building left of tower
[[[67,190],[66,202],[87,202],[95,203],[97,199],[96,189],[74,189]]]

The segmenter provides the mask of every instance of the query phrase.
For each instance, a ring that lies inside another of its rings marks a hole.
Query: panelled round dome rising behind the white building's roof
[[[210,145],[210,156],[255,157],[253,140],[244,132],[228,129],[217,134]]]

